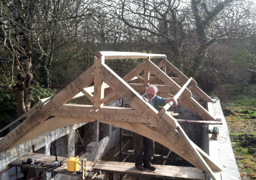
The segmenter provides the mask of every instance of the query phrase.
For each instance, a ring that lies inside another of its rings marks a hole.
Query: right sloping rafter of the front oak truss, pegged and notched
[[[116,92],[139,114],[141,114],[142,117],[152,124],[157,131],[162,133],[169,141],[173,141],[175,139],[176,144],[182,144],[180,151],[189,154],[191,157],[195,157],[193,152],[191,153],[193,149],[191,149],[188,144],[186,144],[185,140],[179,135],[179,133],[176,132],[175,129],[177,127],[181,129],[176,119],[174,119],[171,115],[168,116],[167,113],[165,113],[162,118],[159,118],[157,116],[158,112],[156,109],[147,104],[135,90],[133,90],[126,82],[119,78],[119,76],[108,68],[108,66],[102,65],[102,74],[102,80],[111,86],[112,89],[115,89]],[[199,164],[198,166],[200,166],[201,169],[204,169],[205,166],[202,166],[198,160],[197,164]],[[208,172],[208,169],[205,170]]]

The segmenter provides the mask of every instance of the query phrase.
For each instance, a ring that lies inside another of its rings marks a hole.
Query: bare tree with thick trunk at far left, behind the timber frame
[[[18,117],[30,110],[34,71],[41,66],[41,77],[49,79],[54,54],[84,36],[82,24],[93,8],[83,0],[1,0],[0,87],[15,92]],[[79,48],[73,50],[63,62]]]

